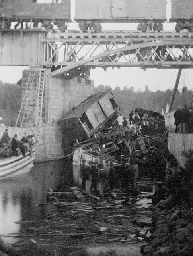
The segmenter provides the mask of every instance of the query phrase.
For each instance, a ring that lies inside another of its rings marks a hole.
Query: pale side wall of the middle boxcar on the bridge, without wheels
[[[75,21],[166,20],[166,0],[76,0]]]

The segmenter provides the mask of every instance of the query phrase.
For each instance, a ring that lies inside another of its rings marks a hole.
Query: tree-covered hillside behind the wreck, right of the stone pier
[[[99,85],[96,87],[95,92],[103,92],[110,88],[109,86]],[[166,109],[167,103],[170,103],[170,98],[172,95],[171,90],[156,91],[151,92],[146,85],[145,90],[142,92],[140,90],[135,90],[133,87],[116,87],[112,90],[117,104],[121,108],[121,114],[125,117],[128,117],[131,110],[135,108],[144,108],[146,110],[152,110],[158,113],[161,113],[161,109]],[[174,108],[177,106],[183,106],[187,104],[189,106],[191,98],[193,96],[193,91],[187,91],[186,88],[183,88],[182,92],[177,91]]]

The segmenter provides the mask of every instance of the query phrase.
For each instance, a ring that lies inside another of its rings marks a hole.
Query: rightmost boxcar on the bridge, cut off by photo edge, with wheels
[[[193,0],[172,0],[171,22],[176,22],[175,30],[188,29],[193,32]]]

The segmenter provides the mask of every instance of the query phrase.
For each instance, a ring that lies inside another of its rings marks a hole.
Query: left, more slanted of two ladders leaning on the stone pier
[[[15,126],[19,125],[19,127],[22,127],[23,120],[26,118],[27,108],[28,108],[28,103],[29,103],[29,98],[30,98],[30,92],[32,89],[32,84],[34,82],[35,74],[36,74],[36,71],[33,69],[30,69],[27,83],[26,83],[25,92],[23,95],[23,100],[21,102],[21,106],[20,106],[20,110],[18,113],[18,117],[17,117]]]

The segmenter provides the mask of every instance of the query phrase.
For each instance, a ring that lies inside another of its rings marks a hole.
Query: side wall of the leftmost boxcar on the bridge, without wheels
[[[7,18],[65,19],[70,21],[70,0],[49,4],[39,4],[33,0],[4,0],[2,12]]]

